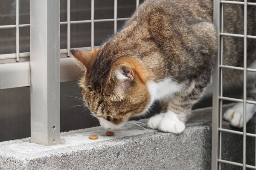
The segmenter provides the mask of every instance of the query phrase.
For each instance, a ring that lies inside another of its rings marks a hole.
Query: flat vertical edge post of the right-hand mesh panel
[[[216,63],[212,78],[212,170],[218,170],[218,155],[219,155],[219,92],[220,92],[220,1],[213,1],[213,22],[217,28],[218,38],[218,53],[216,55]]]

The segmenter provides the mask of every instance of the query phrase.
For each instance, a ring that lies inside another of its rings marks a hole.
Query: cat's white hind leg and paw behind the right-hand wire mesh
[[[247,83],[247,100],[256,101],[256,82]],[[256,111],[256,105],[246,104],[246,122],[248,122]],[[243,127],[244,122],[244,104],[237,103],[224,113],[224,119],[230,122],[232,126]]]

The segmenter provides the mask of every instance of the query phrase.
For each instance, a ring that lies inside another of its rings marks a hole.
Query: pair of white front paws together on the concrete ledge
[[[152,129],[158,129],[162,132],[181,133],[185,129],[185,125],[181,122],[176,113],[167,111],[151,117],[148,120],[148,126]]]

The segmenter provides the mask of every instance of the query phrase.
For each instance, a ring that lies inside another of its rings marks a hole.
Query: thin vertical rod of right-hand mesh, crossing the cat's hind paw
[[[246,170],[246,68],[247,68],[247,0],[244,0],[244,128],[243,128],[243,170]]]

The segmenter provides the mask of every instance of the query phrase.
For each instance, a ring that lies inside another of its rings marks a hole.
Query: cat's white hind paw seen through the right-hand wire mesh
[[[255,113],[256,106],[253,104],[246,105],[246,122],[248,122]],[[232,126],[243,127],[244,115],[243,115],[243,103],[238,103],[233,108],[228,109],[224,113],[224,119],[229,121]]]

